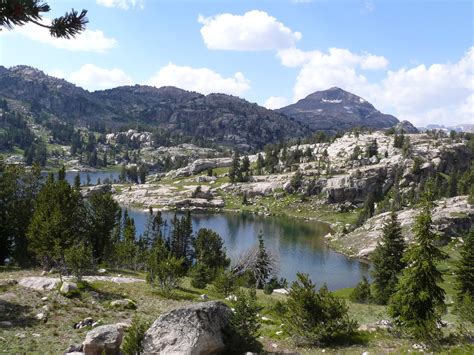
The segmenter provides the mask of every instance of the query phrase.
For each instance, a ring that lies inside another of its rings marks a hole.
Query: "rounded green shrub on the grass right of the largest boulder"
[[[297,345],[320,345],[352,335],[357,322],[348,315],[344,300],[326,285],[316,291],[307,274],[298,273],[288,295],[285,330]]]

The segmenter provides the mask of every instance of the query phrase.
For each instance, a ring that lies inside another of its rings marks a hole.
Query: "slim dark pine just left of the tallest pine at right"
[[[406,245],[395,211],[385,222],[382,233],[382,239],[372,255],[372,276],[375,300],[386,304],[395,292],[398,276],[405,267],[402,257]]]

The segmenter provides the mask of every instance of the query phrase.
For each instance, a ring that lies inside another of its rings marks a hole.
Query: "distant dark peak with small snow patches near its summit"
[[[317,91],[276,111],[310,129],[324,131],[345,131],[353,127],[389,128],[399,122],[363,98],[337,87]]]

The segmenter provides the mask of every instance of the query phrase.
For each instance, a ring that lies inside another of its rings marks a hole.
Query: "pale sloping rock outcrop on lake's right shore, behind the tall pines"
[[[413,240],[411,230],[419,209],[406,209],[397,213],[403,235],[408,242]],[[367,258],[375,250],[382,236],[382,228],[389,212],[376,215],[368,219],[361,227],[346,235],[330,237],[330,241],[337,241],[344,245],[344,252],[348,255]],[[474,206],[468,203],[467,196],[457,196],[436,201],[432,209],[433,224],[436,232],[446,242],[451,237],[467,233],[474,224]]]

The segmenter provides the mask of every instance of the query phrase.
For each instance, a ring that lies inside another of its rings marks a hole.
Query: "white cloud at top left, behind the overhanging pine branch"
[[[44,20],[45,24],[50,24],[50,19]],[[72,52],[96,52],[104,53],[116,46],[117,41],[114,38],[107,37],[100,30],[86,29],[75,38],[55,38],[52,37],[49,30],[33,23],[27,23],[24,26],[15,26],[12,31],[1,31],[4,35],[18,34],[29,38],[35,42],[51,45],[56,48],[65,49]],[[0,35],[1,36],[1,35]]]

